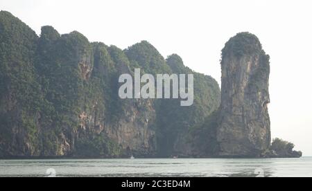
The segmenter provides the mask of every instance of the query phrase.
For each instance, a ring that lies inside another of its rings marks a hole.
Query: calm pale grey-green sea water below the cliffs
[[[56,176],[312,176],[312,157],[0,160],[0,176],[46,176],[48,169]]]

